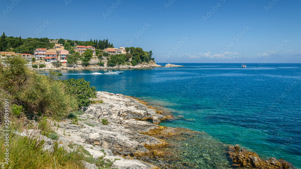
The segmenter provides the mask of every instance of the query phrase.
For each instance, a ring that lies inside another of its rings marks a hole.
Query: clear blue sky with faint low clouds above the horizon
[[[0,32],[152,50],[170,63],[301,63],[299,0],[2,0]]]

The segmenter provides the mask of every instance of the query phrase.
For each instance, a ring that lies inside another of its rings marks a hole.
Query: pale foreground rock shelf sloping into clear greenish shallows
[[[119,169],[246,167],[233,160],[236,158],[233,153],[231,156],[229,145],[212,139],[206,132],[158,125],[162,120],[173,117],[162,114],[143,101],[108,92],[97,92],[97,97],[93,100],[102,102],[83,107],[78,125],[71,124],[71,119],[61,122],[49,120],[52,129],[59,135],[59,146],[72,151],[66,145],[80,145],[95,159],[113,160],[112,167]],[[108,125],[102,123],[103,119]],[[29,130],[27,134],[33,132],[41,133],[39,130]],[[23,134],[26,135],[26,132]],[[54,140],[41,137],[46,140],[44,149],[51,150]],[[189,149],[193,152],[199,149],[199,152],[193,154]],[[215,150],[208,152],[209,149]],[[227,150],[230,152],[229,156],[225,155]],[[228,157],[232,161],[229,162]],[[222,163],[214,162],[221,161],[221,158]],[[277,162],[275,164],[279,164]],[[274,161],[269,164],[274,164]],[[95,168],[95,164],[86,166],[88,169]],[[284,162],[277,166],[293,168]],[[254,166],[251,164],[249,167]]]

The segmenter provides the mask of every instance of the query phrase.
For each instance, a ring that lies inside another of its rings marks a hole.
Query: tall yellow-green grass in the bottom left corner
[[[44,140],[39,141],[38,138],[23,137],[17,134],[17,131],[11,128],[8,133],[9,145],[5,144],[4,132],[0,138],[0,158],[5,158],[6,148],[9,149],[9,167],[11,168],[84,168],[81,162],[85,160],[85,156],[78,150],[67,152],[64,147],[58,148],[57,144],[53,144],[54,151],[44,151]],[[5,162],[3,160],[3,162]],[[7,165],[2,163],[3,168]],[[0,166],[0,167],[2,167]]]

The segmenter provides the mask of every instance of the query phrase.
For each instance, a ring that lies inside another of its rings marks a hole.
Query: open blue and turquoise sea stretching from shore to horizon
[[[206,131],[262,158],[301,168],[301,64],[183,63],[179,68],[61,70],[98,91],[122,93],[164,107],[175,117],[160,125]],[[117,71],[117,70],[116,70]]]

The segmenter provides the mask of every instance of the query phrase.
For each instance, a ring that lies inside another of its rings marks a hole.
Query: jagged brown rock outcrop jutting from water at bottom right
[[[290,163],[284,160],[277,160],[270,158],[263,160],[259,158],[255,152],[247,151],[246,149],[239,149],[238,145],[229,146],[227,153],[231,158],[233,167],[253,167],[259,169],[289,169],[294,168]]]

